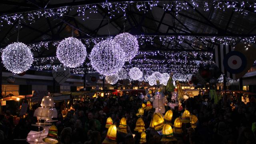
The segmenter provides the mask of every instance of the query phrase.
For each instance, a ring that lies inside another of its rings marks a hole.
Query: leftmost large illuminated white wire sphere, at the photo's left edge
[[[30,68],[33,55],[28,46],[21,42],[14,42],[2,51],[2,62],[7,70],[20,74]]]

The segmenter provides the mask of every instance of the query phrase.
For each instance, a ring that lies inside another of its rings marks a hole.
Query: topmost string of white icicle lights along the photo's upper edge
[[[32,10],[28,12],[20,12],[14,14],[6,14],[0,16],[0,26],[4,23],[14,24],[18,19],[27,18],[31,23],[35,22],[40,17],[52,17],[63,16],[70,10],[76,10],[78,15],[84,16],[84,19],[90,18],[90,13],[98,13],[100,9],[104,9],[110,15],[110,18],[115,17],[117,14],[122,13],[126,16],[126,10],[133,6],[138,11],[147,12],[154,7],[161,7],[165,11],[174,11],[178,13],[182,10],[188,10],[190,8],[195,9],[202,7],[204,11],[209,11],[210,8],[219,9],[225,11],[227,9],[233,9],[241,14],[248,14],[248,10],[256,12],[255,0],[159,0],[159,1],[126,1],[126,2],[102,2],[95,4],[85,4],[78,6],[62,6],[58,8],[45,8],[41,10]]]

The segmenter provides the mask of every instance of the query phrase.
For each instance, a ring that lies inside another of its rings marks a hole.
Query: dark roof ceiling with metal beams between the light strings
[[[136,0],[134,0],[136,2]],[[144,0],[139,0],[143,2]],[[130,32],[135,35],[155,35],[155,36],[194,36],[193,40],[182,40],[164,42],[157,38],[150,43],[145,41],[140,46],[140,51],[170,51],[182,52],[188,58],[193,60],[195,57],[190,52],[212,52],[214,42],[201,42],[202,37],[206,36],[234,36],[250,37],[256,34],[256,13],[253,8],[245,7],[247,13],[235,11],[234,8],[223,10],[210,6],[208,11],[204,11],[203,1],[197,1],[199,6],[194,8],[191,2],[188,2],[188,10],[176,12],[164,11],[161,4],[170,4],[169,1],[160,0],[158,6],[147,9],[146,12],[139,11],[133,4],[126,8],[124,13],[108,13],[107,8],[102,8],[95,4],[98,13],[86,11],[86,17],[90,19],[83,20],[83,16],[77,12],[79,5],[94,4],[106,2],[106,0],[0,0],[0,16],[14,13],[26,14],[34,10],[46,10],[50,8],[59,8],[68,6],[68,12],[64,16],[51,16],[35,18],[31,23],[28,16],[20,20],[19,41],[25,44],[38,42],[59,41],[72,35],[77,38],[98,38],[110,35]],[[108,0],[108,2],[115,2]],[[122,0],[118,2],[123,2]],[[209,3],[210,4],[210,3]],[[112,18],[110,18],[112,17]],[[92,20],[93,19],[93,20]],[[102,20],[103,19],[103,20]],[[108,19],[109,24],[108,24]],[[31,24],[30,24],[31,23]],[[16,42],[18,32],[18,20],[13,24],[2,22],[0,27],[0,47]],[[50,48],[41,48],[33,50],[35,58],[56,56],[56,46],[49,45]],[[87,48],[88,53],[93,45]],[[140,59],[140,56],[136,58]],[[164,57],[148,56],[148,58],[165,59]],[[177,58],[179,59],[179,58]],[[209,58],[204,58],[209,60]],[[87,60],[88,61],[88,60]],[[55,62],[58,63],[58,62]]]

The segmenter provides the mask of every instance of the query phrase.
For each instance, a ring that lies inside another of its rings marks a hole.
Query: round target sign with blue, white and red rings
[[[238,51],[231,51],[224,56],[223,66],[233,74],[238,74],[246,68],[247,60],[244,54]]]

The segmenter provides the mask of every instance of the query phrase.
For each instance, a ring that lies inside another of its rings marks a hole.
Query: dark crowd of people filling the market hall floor
[[[236,107],[230,105],[230,101],[222,98],[218,104],[213,101],[205,103],[204,96],[194,96],[182,101],[182,107],[198,117],[196,128],[190,123],[182,126],[183,133],[175,134],[176,141],[162,142],[161,133],[150,129],[150,121],[154,114],[154,108],[145,111],[140,116],[145,123],[146,143],[148,144],[256,144],[256,101],[250,97],[250,102],[236,102]],[[142,106],[138,96],[124,94],[120,96],[108,96],[85,102],[76,102],[74,110],[68,111],[63,118],[61,108],[58,114],[58,122],[54,125],[58,128],[59,144],[101,144],[108,131],[105,128],[106,119],[111,117],[113,124],[119,125],[121,118],[126,118],[127,132],[117,133],[117,144],[138,144],[140,133],[134,131],[138,116],[138,108]],[[166,111],[170,107],[166,106]],[[184,110],[179,111],[175,107],[174,119],[181,116]],[[33,110],[28,111],[25,118],[15,126],[13,116],[7,111],[0,115],[0,143],[22,144],[30,130],[38,131],[38,127],[31,126],[36,123]],[[132,134],[135,134],[132,135]],[[22,141],[23,140],[23,141]]]

